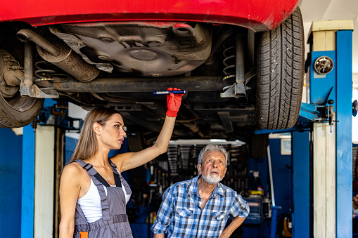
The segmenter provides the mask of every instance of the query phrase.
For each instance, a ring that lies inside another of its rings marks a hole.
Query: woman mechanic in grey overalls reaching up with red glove
[[[172,90],[179,89],[168,88]],[[71,163],[60,179],[60,238],[132,237],[126,215],[132,191],[120,173],[167,151],[182,95],[167,95],[167,116],[153,146],[110,159],[108,153],[120,149],[126,135],[121,115],[106,107],[87,114]]]

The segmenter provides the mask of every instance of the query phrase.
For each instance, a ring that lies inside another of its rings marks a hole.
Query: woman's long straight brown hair
[[[96,107],[89,112],[84,119],[79,140],[72,155],[70,162],[76,159],[89,159],[96,154],[98,150],[96,133],[93,129],[93,124],[97,122],[101,126],[105,126],[106,122],[113,116],[113,114],[120,114],[117,110],[108,107]]]

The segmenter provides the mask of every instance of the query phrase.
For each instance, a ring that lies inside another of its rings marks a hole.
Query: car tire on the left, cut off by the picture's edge
[[[0,25],[0,29],[0,49],[8,51],[23,65],[23,44],[16,39],[15,30],[8,25]],[[1,75],[0,81],[4,81]],[[0,91],[0,127],[17,128],[30,124],[39,115],[43,105],[44,99],[21,97],[19,91],[11,97],[4,97]]]

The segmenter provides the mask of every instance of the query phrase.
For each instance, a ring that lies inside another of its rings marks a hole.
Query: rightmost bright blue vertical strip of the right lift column
[[[337,32],[337,237],[352,237],[352,30]]]

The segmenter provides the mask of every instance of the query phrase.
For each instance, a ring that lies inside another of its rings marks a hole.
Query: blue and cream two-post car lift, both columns
[[[352,29],[352,20],[312,23],[307,103],[302,103],[299,123],[286,130],[292,133],[293,237],[352,237],[352,112],[357,114],[357,103],[352,106]],[[258,133],[271,132],[281,131]],[[55,126],[40,124],[36,133],[31,126],[24,128],[23,238],[52,236],[53,213],[58,212],[54,178],[61,170],[54,152],[61,136]],[[273,223],[271,237],[274,229]]]

